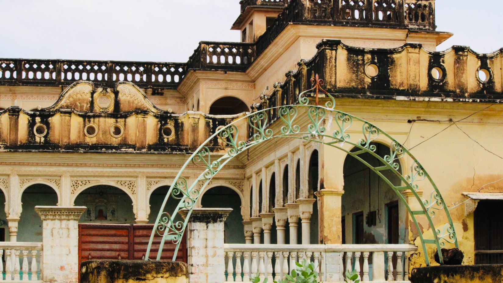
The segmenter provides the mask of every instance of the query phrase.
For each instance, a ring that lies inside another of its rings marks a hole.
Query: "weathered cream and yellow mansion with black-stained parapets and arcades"
[[[191,282],[281,276],[285,258],[315,261],[327,282],[351,268],[364,281],[407,281],[410,268],[435,264],[432,233],[446,247],[454,235],[464,263],[503,261],[494,143],[503,132],[503,49],[436,51],[452,34],[436,31],[434,0],[240,7],[232,29],[242,42],[200,42],[186,63],[0,59],[6,280],[75,282],[82,260],[144,258],[190,154],[204,144],[212,160],[224,156],[226,140],[207,139],[245,112],[270,108],[263,127],[237,125],[239,140],[279,132],[281,107],[299,104],[316,76],[330,95],[308,92],[311,104],[334,98],[335,109],[369,123],[299,108],[290,115],[310,137],[261,140],[207,185],[204,168],[187,166],[187,183],[201,189],[196,207],[233,209],[213,230],[187,231],[178,259],[189,262]],[[339,149],[317,136],[324,132]],[[409,159],[393,155],[401,145]],[[390,156],[395,171],[379,165]],[[194,217],[204,222],[204,210]],[[173,251],[166,243],[161,258]]]

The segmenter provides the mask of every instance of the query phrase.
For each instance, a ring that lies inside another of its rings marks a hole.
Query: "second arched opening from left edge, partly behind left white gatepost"
[[[57,205],[58,195],[46,184],[33,184],[21,195],[22,211],[18,224],[18,242],[42,242],[42,219],[37,205]]]

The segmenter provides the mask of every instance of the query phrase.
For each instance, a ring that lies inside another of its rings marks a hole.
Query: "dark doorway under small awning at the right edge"
[[[475,264],[503,263],[503,201],[480,200],[473,222]]]

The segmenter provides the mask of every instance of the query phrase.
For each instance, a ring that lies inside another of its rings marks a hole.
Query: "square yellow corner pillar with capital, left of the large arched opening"
[[[322,189],[318,197],[320,244],[342,244],[342,195],[344,191]]]

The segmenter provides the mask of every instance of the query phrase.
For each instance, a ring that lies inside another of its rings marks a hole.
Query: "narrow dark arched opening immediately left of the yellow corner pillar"
[[[307,173],[308,176],[308,186],[309,186],[309,197],[313,197],[316,199],[313,202],[313,213],[311,215],[311,244],[318,244],[318,235],[319,235],[319,219],[318,219],[318,197],[314,195],[316,191],[318,191],[318,151],[314,150],[311,154],[311,158],[309,159],[309,170]]]

